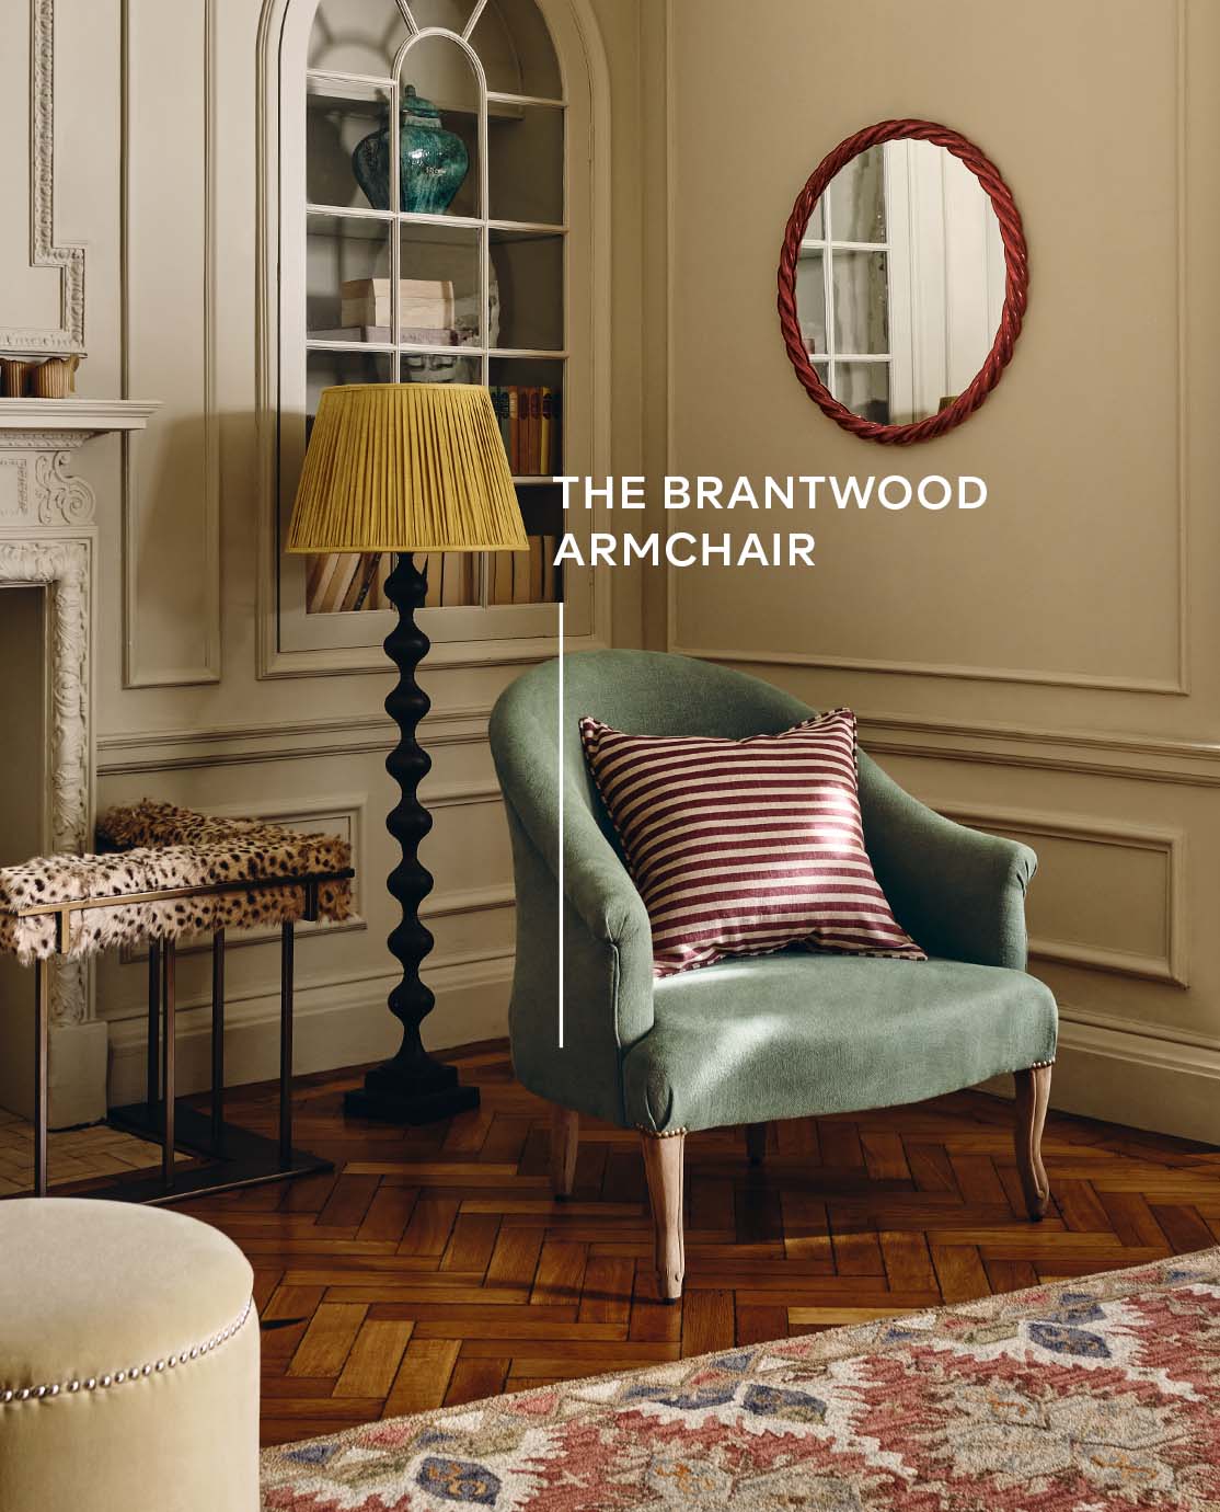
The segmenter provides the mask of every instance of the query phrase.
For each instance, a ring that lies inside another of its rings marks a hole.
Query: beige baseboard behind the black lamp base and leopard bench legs
[[[363,980],[301,983],[295,1001],[295,1069],[337,1070],[392,1055],[399,1045],[398,1022],[386,996],[398,974],[382,972]],[[437,1004],[423,1024],[428,1049],[446,1049],[472,1040],[508,1034],[508,993],[512,983],[512,953],[451,956],[429,963],[428,986]],[[110,1024],[110,1104],[138,1102],[144,1096],[145,1021]],[[280,1067],[278,990],[230,1001],[225,1005],[225,1086],[269,1081]],[[210,1086],[210,1019],[206,1012],[187,1012],[177,1034],[178,1092],[203,1092]]]

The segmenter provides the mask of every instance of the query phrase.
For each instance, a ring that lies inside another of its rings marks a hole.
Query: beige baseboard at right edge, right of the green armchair
[[[1220,1145],[1220,1049],[1067,1016],[1051,1107],[1157,1134]],[[1010,1077],[984,1090],[1011,1096]]]

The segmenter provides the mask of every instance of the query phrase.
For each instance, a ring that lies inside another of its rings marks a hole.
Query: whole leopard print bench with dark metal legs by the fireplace
[[[112,1108],[109,1122],[160,1137],[160,1179],[113,1193],[166,1201],[187,1190],[224,1191],[331,1170],[292,1143],[293,925],[301,918],[346,919],[352,910],[351,847],[333,835],[296,835],[259,820],[219,820],[171,803],[110,809],[91,856],[39,856],[0,868],[0,951],[35,968],[33,1190],[47,1194],[50,968],[53,956],[95,956],[148,940],[148,1066],[145,1099]],[[113,900],[113,901],[110,901]],[[236,1129],[224,1107],[225,933],[280,925],[280,1139]],[[175,951],[187,934],[212,936],[212,1116],[178,1110],[175,1093]],[[213,1163],[177,1179],[183,1143]],[[203,1125],[200,1129],[198,1125]],[[104,1196],[107,1193],[97,1193]]]

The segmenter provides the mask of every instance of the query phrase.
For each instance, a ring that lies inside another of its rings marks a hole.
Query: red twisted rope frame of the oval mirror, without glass
[[[927,419],[910,425],[880,425],[877,420],[866,420],[863,416],[848,410],[847,405],[839,404],[809,360],[797,318],[797,260],[800,259],[801,242],[809,227],[809,219],[813,215],[813,207],[825,194],[834,174],[869,147],[896,141],[933,142],[937,147],[943,147],[954,157],[961,159],[983,184],[999,221],[999,236],[1004,242],[1004,311],[999,318],[999,330],[996,331],[987,360],[978,369],[969,389],[963,390],[939,414],[930,414]],[[824,414],[828,414],[831,420],[842,425],[845,431],[851,431],[853,435],[862,435],[869,442],[881,442],[884,446],[910,446],[913,442],[930,442],[933,437],[943,435],[955,425],[960,425],[983,404],[1011,361],[1013,346],[1017,336],[1020,336],[1028,299],[1030,259],[1025,248],[1025,231],[1020,225],[1020,212],[1016,207],[1011,191],[1004,183],[995,163],[980,153],[974,142],[968,141],[958,132],[949,130],[946,125],[916,119],[878,121],[877,125],[869,125],[863,132],[848,136],[847,141],[841,142],[833,153],[828,153],[818,163],[804,189],[797,195],[797,203],[792,206],[792,215],[788,219],[788,230],[783,236],[779,271],[779,311],[783,345],[788,348],[788,355],[809,398]]]

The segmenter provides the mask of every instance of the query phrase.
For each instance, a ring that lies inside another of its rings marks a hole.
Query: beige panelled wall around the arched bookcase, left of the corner
[[[308,5],[310,0],[295,0]],[[624,381],[597,395],[611,414],[615,470],[638,472],[643,395],[638,0],[550,0],[584,29],[594,88],[612,80],[611,277],[596,290]],[[386,0],[393,9],[393,0]],[[29,269],[29,15],[0,20],[9,60],[0,122],[0,328],[53,324],[54,275]],[[384,813],[392,726],[379,674],[257,677],[259,493],[255,269],[259,23],[262,0],[56,0],[56,233],[86,243],[89,396],[162,401],[124,455],[91,443],[77,470],[98,496],[95,729],[98,804],[145,794],[349,833],[366,924],[302,937],[298,1069],[372,1060],[396,1045],[384,1007],[393,865]],[[171,14],[172,12],[172,14]],[[605,56],[599,60],[597,54]],[[124,89],[129,130],[124,132]],[[582,160],[573,172],[591,171]],[[127,216],[122,215],[125,174]],[[124,390],[125,383],[125,390]],[[639,638],[638,591],[615,584],[614,632]],[[452,1045],[503,1033],[512,951],[506,830],[487,748],[491,703],[514,665],[425,668],[434,702],[423,741],[435,815],[423,859],[437,937],[428,978],[437,1010],[425,1037]],[[302,931],[305,934],[305,931]],[[272,1075],[278,956],[231,951],[233,1080]],[[180,1055],[206,1081],[206,959],[180,969]],[[110,1025],[112,1101],[142,1084],[144,969],[109,960],[98,1013]],[[192,1012],[198,1007],[200,1012]]]

